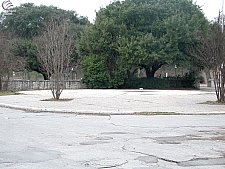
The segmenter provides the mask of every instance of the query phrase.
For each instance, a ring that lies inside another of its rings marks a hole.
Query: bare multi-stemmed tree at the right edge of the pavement
[[[200,44],[189,48],[192,56],[213,72],[215,92],[218,102],[225,102],[225,34],[218,22],[210,24],[208,36],[202,36]]]

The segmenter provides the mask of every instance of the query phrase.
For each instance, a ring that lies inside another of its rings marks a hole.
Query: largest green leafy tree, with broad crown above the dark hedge
[[[116,1],[97,12],[79,51],[84,60],[104,56],[108,74],[120,79],[115,81],[119,86],[133,67],[144,68],[151,78],[162,65],[184,64],[190,59],[186,46],[198,40],[207,24],[191,0]]]

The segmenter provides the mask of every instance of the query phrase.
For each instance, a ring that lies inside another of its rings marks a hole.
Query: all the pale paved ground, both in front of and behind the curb
[[[225,105],[203,104],[210,88],[22,93],[0,97],[0,168],[225,168]]]

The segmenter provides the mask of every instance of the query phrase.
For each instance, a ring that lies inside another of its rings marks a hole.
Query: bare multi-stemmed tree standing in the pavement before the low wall
[[[45,30],[35,39],[37,58],[51,77],[51,91],[58,100],[64,89],[64,73],[68,72],[74,49],[73,32],[67,19],[51,18]]]

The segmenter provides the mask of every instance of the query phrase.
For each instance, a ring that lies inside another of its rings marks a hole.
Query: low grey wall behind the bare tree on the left
[[[85,85],[81,81],[65,81],[65,89],[83,89]],[[10,91],[23,91],[23,90],[44,90],[50,89],[51,81],[23,81],[23,80],[13,80],[13,81],[3,81],[2,89]]]

